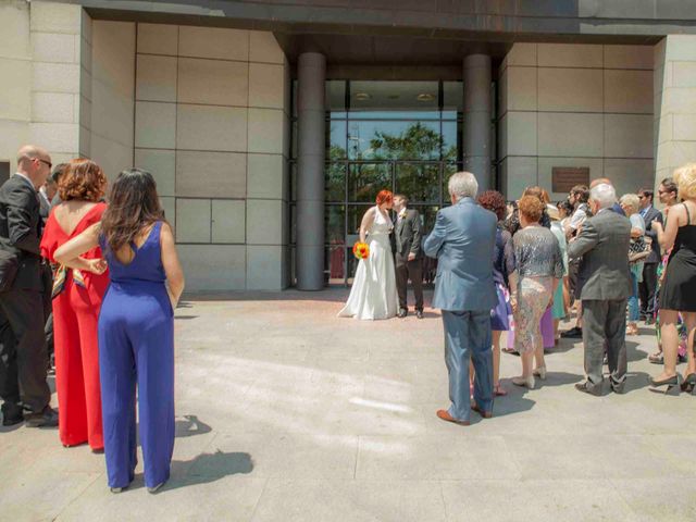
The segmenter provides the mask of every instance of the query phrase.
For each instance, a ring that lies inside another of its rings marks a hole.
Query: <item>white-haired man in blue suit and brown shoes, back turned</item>
[[[493,415],[493,355],[490,310],[497,297],[493,282],[496,216],[474,201],[478,184],[473,174],[458,172],[449,178],[452,201],[437,212],[425,254],[437,258],[433,308],[443,311],[445,362],[449,373],[448,410],[444,421],[469,425],[471,409]],[[474,402],[469,398],[469,360],[476,372]]]

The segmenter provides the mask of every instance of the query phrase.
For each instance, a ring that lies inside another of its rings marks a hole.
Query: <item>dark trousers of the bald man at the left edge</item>
[[[13,405],[22,400],[37,413],[51,400],[44,326],[40,291],[0,294],[0,397]]]

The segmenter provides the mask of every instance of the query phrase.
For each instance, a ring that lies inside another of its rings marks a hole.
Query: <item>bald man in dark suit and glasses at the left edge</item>
[[[17,152],[16,174],[0,187],[0,398],[5,426],[22,421],[28,427],[58,425],[46,382],[39,250],[38,189],[50,172],[48,151],[27,145]],[[26,415],[23,407],[29,410]]]

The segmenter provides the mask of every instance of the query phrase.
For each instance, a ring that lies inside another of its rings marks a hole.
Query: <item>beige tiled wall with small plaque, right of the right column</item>
[[[507,196],[550,189],[554,166],[588,166],[620,194],[651,186],[652,53],[649,46],[515,44],[499,76]]]

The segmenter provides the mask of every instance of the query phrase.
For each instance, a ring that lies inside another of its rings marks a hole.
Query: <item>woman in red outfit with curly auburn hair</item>
[[[53,252],[69,239],[101,221],[100,202],[107,177],[99,165],[78,159],[70,163],[59,183],[62,203],[54,207],[41,239],[41,256],[54,265],[53,328],[59,433],[63,446],[89,443],[103,450],[97,321],[109,284],[99,247],[86,252],[82,268],[55,265]]]

